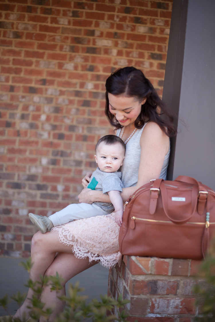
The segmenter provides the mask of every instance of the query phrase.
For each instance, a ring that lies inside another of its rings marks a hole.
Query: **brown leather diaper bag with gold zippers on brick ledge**
[[[188,176],[151,180],[125,203],[123,255],[201,260],[215,234],[215,192]]]

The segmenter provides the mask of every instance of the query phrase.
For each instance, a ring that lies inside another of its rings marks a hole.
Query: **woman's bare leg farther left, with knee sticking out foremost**
[[[41,232],[35,233],[32,238],[31,245],[31,258],[33,266],[30,270],[30,279],[37,281],[40,279],[40,276],[44,276],[45,271],[54,261],[57,252],[73,254],[73,248],[71,246],[66,246],[60,243],[57,232],[46,232],[45,234],[42,234]],[[80,264],[80,266],[82,266],[82,264]],[[83,270],[85,270],[86,268],[84,268]],[[81,271],[82,270],[80,270],[80,272]],[[32,298],[32,295],[33,291],[29,289],[26,300],[24,301],[23,305],[17,310],[14,317],[25,319],[29,317],[29,309],[27,308],[27,306],[31,304],[31,301],[28,298]]]

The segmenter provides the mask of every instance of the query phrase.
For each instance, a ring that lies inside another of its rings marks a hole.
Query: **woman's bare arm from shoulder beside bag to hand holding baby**
[[[165,155],[169,149],[169,137],[156,123],[149,122],[142,131],[140,145],[141,157],[137,185],[122,189],[121,197],[123,202],[142,185],[145,185],[151,179],[159,178]],[[110,202],[109,196],[98,190],[83,189],[78,197],[79,202]]]

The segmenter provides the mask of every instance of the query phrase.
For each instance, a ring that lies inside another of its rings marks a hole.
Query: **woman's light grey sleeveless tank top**
[[[139,164],[140,164],[140,154],[141,154],[140,137],[141,137],[143,128],[145,127],[146,124],[147,123],[145,123],[140,130],[137,129],[134,135],[130,138],[130,140],[126,144],[125,158],[123,161],[123,165],[120,168],[120,171],[122,172],[121,180],[124,187],[132,187],[137,185],[138,170],[139,170]],[[116,135],[117,136],[120,135],[120,129],[117,130]],[[170,157],[170,145],[169,145],[169,150],[163,162],[161,174],[159,176],[159,178],[162,178],[164,180],[166,180],[166,172],[167,172],[169,157]],[[156,178],[151,178],[151,179],[156,179]]]

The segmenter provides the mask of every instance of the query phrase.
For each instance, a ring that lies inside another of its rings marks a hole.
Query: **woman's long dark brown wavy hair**
[[[167,111],[165,104],[158,96],[151,82],[144,76],[143,72],[135,67],[119,68],[113,72],[105,83],[106,106],[105,114],[116,129],[122,128],[115,116],[109,110],[108,93],[112,95],[124,95],[127,97],[135,97],[142,101],[146,98],[146,102],[141,107],[141,112],[134,122],[135,128],[142,128],[145,122],[153,121],[170,137],[176,134],[173,125],[173,118]],[[165,116],[161,117],[162,115]]]

